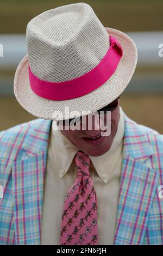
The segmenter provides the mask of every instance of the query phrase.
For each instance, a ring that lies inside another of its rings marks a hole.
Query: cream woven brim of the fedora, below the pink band
[[[113,28],[105,28],[109,35],[120,42],[123,56],[114,74],[102,86],[84,96],[71,100],[53,101],[43,99],[30,88],[28,76],[28,54],[18,64],[14,77],[14,94],[20,105],[37,118],[54,120],[53,113],[58,111],[57,120],[73,118],[74,111],[83,115],[84,111],[95,112],[114,101],[126,89],[134,74],[137,63],[137,49],[133,40],[125,33]],[[69,107],[70,115],[65,114]]]

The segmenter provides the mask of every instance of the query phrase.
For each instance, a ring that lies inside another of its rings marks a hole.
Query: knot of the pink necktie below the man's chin
[[[76,156],[74,156],[74,162],[77,165],[78,168],[78,174],[80,176],[82,175],[90,175],[89,168],[90,168],[90,157],[86,155],[82,151],[78,151]]]

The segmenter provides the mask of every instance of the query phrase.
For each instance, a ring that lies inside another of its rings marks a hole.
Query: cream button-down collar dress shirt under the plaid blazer
[[[66,194],[77,176],[73,161],[79,151],[60,130],[51,129],[42,212],[42,245],[60,245]],[[109,151],[91,159],[90,175],[97,197],[99,245],[113,245],[122,166],[124,117],[120,106],[117,132]]]

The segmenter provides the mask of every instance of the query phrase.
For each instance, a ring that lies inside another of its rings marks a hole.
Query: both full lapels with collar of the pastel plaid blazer
[[[138,126],[125,113],[124,121],[115,244],[141,244],[158,175],[145,163],[153,150],[143,126]],[[37,119],[22,145],[28,157],[14,162],[12,166],[15,239],[19,245],[41,244],[43,186],[51,125],[52,121]]]

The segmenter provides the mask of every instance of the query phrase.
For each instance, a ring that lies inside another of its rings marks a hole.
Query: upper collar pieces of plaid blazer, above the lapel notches
[[[153,155],[147,134],[143,126],[131,120],[123,110],[122,113],[124,114],[123,154],[130,155],[143,163]],[[36,119],[35,126],[30,127],[22,144],[22,149],[26,151],[28,156],[36,155],[42,150],[47,151],[51,125],[51,120]]]

